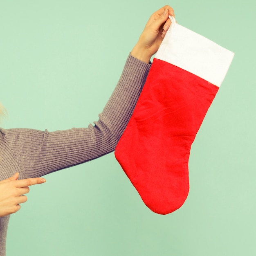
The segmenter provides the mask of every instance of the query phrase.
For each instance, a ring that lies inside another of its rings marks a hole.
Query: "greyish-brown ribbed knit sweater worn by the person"
[[[99,120],[88,128],[48,132],[0,129],[0,180],[40,177],[112,152],[126,128],[150,64],[128,56],[119,82]],[[17,213],[18,214],[18,213]],[[0,256],[5,256],[10,216],[0,218]]]

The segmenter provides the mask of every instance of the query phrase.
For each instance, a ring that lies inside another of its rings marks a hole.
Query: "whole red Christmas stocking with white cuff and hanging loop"
[[[144,203],[167,214],[189,193],[189,153],[234,54],[175,23],[159,47],[115,156]]]

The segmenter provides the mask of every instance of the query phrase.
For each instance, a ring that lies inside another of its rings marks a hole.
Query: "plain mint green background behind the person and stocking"
[[[4,128],[50,131],[98,119],[151,13],[235,52],[191,148],[190,193],[160,216],[111,153],[47,175],[11,216],[7,256],[256,255],[255,4],[252,0],[0,2]]]

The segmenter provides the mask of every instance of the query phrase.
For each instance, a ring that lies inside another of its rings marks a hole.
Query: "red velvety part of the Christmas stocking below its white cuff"
[[[191,144],[217,91],[194,74],[153,60],[115,156],[155,213],[171,213],[186,200]]]

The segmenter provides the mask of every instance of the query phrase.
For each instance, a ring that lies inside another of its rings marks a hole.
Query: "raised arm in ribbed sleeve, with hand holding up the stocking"
[[[168,29],[168,15],[173,15],[173,9],[165,6],[150,16],[114,92],[94,126],[56,132],[2,130],[22,178],[38,177],[81,164],[115,149],[145,83],[150,57],[157,51]]]

